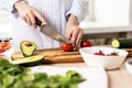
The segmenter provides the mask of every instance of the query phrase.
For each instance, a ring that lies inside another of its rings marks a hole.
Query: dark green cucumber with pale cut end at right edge
[[[111,41],[111,46],[116,48],[130,48],[132,47],[132,38],[114,38]]]

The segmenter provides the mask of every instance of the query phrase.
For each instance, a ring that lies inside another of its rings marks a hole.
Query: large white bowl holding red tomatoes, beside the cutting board
[[[96,52],[103,52],[106,55],[95,55]],[[128,52],[119,48],[112,48],[112,47],[103,47],[103,46],[91,46],[91,47],[84,47],[79,50],[84,62],[88,66],[95,66],[95,67],[103,67],[106,69],[114,69],[122,65],[124,59],[128,56]],[[117,52],[118,56],[107,56],[107,54]]]

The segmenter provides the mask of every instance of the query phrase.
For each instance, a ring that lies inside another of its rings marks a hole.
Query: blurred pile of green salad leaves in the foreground
[[[28,67],[0,59],[0,88],[77,88],[85,79],[76,70],[67,70],[65,76],[33,74]]]

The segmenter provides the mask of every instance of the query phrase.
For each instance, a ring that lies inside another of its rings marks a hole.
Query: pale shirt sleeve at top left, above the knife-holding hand
[[[14,12],[14,3],[19,0],[0,0],[0,4],[10,12]]]

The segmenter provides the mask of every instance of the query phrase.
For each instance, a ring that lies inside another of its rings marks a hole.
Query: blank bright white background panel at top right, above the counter
[[[130,0],[95,0],[95,19],[103,22],[129,22]]]

